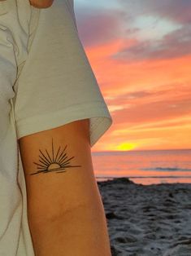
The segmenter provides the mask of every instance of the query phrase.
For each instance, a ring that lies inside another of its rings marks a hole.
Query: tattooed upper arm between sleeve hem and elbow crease
[[[28,214],[48,218],[98,198],[89,143],[89,119],[19,140]]]

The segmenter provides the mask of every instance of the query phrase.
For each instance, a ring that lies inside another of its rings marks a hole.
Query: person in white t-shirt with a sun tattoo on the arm
[[[91,148],[112,118],[73,1],[49,1],[0,2],[0,255],[110,256]]]

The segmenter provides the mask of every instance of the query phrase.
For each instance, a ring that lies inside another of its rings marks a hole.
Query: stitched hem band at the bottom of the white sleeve
[[[112,124],[108,108],[102,102],[77,104],[59,109],[53,113],[36,115],[16,121],[17,138],[20,139],[27,135],[63,126],[72,121],[88,118],[90,145],[92,148]]]

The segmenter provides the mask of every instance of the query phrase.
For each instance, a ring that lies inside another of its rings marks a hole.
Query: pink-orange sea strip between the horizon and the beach
[[[97,181],[128,177],[134,183],[191,183],[191,149],[92,152]]]

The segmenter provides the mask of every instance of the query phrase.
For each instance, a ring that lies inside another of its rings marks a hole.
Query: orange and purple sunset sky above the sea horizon
[[[96,151],[191,148],[191,1],[76,0],[113,124]]]

